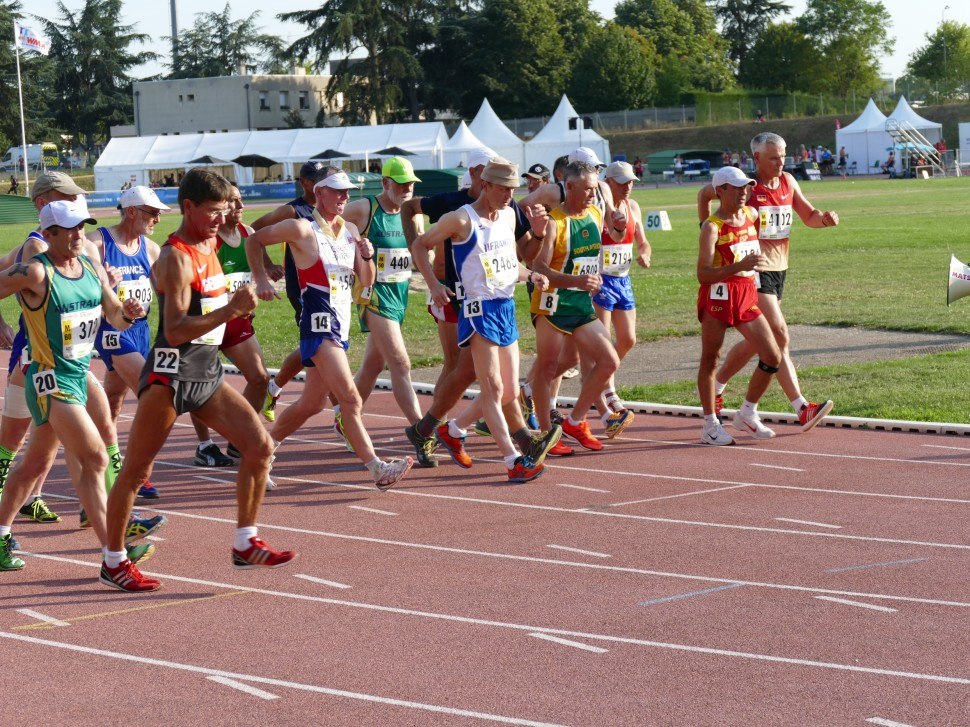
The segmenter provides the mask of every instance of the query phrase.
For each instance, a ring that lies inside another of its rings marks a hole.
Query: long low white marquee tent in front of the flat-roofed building
[[[114,191],[129,181],[147,185],[150,171],[187,169],[192,159],[204,155],[231,160],[241,154],[261,154],[282,164],[285,178],[293,174],[290,165],[302,164],[326,149],[336,149],[349,159],[367,160],[382,149],[397,146],[411,152],[409,159],[416,169],[440,169],[441,150],[447,141],[440,121],[116,138],[108,142],[94,165],[94,186],[99,191]],[[245,184],[252,179],[252,170],[236,166],[235,177]]]

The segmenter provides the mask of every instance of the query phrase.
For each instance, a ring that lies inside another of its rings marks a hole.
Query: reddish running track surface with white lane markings
[[[366,423],[409,451],[389,393]],[[141,508],[169,518],[148,596],[97,582],[59,463],[64,522],[18,520],[27,568],[0,574],[3,723],[968,721],[963,439],[779,426],[715,449],[641,415],[528,485],[470,436],[473,469],[382,494],[330,424],[278,452],[260,534],[300,558],[264,572],[230,567],[234,470],[192,467],[181,421]]]

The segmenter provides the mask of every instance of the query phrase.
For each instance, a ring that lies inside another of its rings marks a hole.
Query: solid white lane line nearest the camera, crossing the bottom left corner
[[[239,674],[237,672],[223,671],[221,669],[210,669],[204,666],[196,666],[195,664],[182,664],[177,661],[167,661],[164,659],[153,659],[146,656],[137,656],[135,654],[125,654],[118,651],[107,651],[106,649],[94,649],[90,646],[79,646],[77,644],[65,644],[61,641],[50,641],[48,639],[38,639],[33,636],[24,636],[22,634],[11,634],[5,631],[0,631],[0,638],[4,639],[14,639],[16,641],[22,641],[28,644],[35,644],[38,646],[50,646],[55,649],[65,649],[67,651],[76,651],[82,654],[92,654],[94,656],[103,656],[109,659],[118,659],[120,661],[134,662],[136,664],[147,664],[149,666],[159,666],[168,669],[177,669],[179,671],[187,671],[195,674],[204,674],[206,676],[212,677],[222,677],[224,679],[234,679],[238,681],[255,682],[256,684],[268,684],[275,687],[284,687],[287,689],[298,689],[304,692],[315,692],[317,694],[328,694],[333,697],[344,697],[347,699],[356,699],[363,702],[376,702],[378,704],[387,704],[394,707],[408,707],[410,709],[420,709],[427,712],[436,712],[438,714],[447,714],[453,717],[469,717],[471,719],[481,719],[490,722],[499,722],[503,724],[515,724],[515,725],[528,725],[529,727],[559,727],[558,725],[550,725],[545,722],[534,722],[532,720],[521,719],[518,717],[505,717],[498,714],[489,714],[487,712],[477,712],[467,709],[457,709],[454,707],[444,707],[437,704],[424,704],[422,702],[412,702],[404,699],[393,699],[391,697],[381,697],[376,694],[365,694],[362,692],[348,692],[344,689],[332,689],[330,687],[320,687],[315,684],[301,684],[300,682],[290,682],[283,679],[271,679],[269,677],[261,677],[256,674]]]

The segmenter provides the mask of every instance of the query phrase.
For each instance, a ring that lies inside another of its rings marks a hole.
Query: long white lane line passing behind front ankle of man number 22
[[[293,479],[293,478],[289,478]],[[77,500],[76,497],[67,495],[45,495],[46,497],[59,497],[62,500]],[[142,508],[145,509],[145,508]],[[204,522],[229,523],[235,524],[235,520],[229,518],[213,517],[212,515],[198,515],[195,513],[180,512],[178,510],[159,510],[153,508],[152,512],[174,517],[184,517],[191,520],[202,520]],[[745,586],[755,586],[758,588],[777,589],[782,591],[795,591],[798,593],[831,593],[837,596],[855,596],[856,598],[876,598],[889,601],[905,601],[906,603],[918,603],[925,606],[952,606],[954,608],[970,608],[970,602],[966,601],[944,601],[935,598],[920,598],[918,596],[900,596],[891,593],[865,593],[859,591],[843,591],[833,588],[818,588],[816,586],[796,586],[788,583],[772,583],[763,581],[745,581],[738,578],[717,578],[714,576],[702,576],[692,573],[672,573],[668,571],[647,570],[645,568],[633,568],[630,566],[602,565],[599,563],[588,563],[584,561],[558,560],[554,558],[538,558],[529,555],[515,555],[512,553],[496,553],[487,550],[469,550],[467,548],[454,548],[446,545],[433,545],[430,543],[414,543],[404,540],[386,540],[383,538],[366,537],[363,535],[349,535],[347,533],[334,533],[326,530],[310,530],[308,528],[295,528],[287,525],[272,525],[268,523],[258,523],[259,527],[267,530],[279,530],[286,533],[298,533],[301,535],[318,535],[325,538],[337,540],[348,540],[361,543],[375,543],[377,545],[389,545],[401,548],[413,548],[415,550],[429,550],[437,553],[451,553],[457,555],[472,555],[481,558],[495,558],[498,560],[511,560],[523,563],[538,563],[540,565],[561,566],[566,568],[588,568],[590,570],[604,570],[614,573],[630,573],[634,575],[657,576],[660,578],[676,578],[679,580],[699,581],[701,583],[740,583]],[[44,553],[26,552],[35,558],[47,558],[50,560],[61,560],[57,556]],[[69,563],[84,563],[84,561],[66,560]],[[90,564],[87,564],[90,565]]]

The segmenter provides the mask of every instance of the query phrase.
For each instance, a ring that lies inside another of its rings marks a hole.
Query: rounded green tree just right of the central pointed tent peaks
[[[569,97],[582,108],[599,111],[639,109],[653,103],[656,51],[633,28],[613,23],[588,34],[569,81]]]

